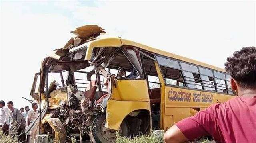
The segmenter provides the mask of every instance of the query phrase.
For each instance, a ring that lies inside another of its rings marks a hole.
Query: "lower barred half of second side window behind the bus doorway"
[[[192,72],[185,72],[185,71],[183,72],[183,74],[188,87],[202,89],[202,84],[200,82],[199,74],[195,74]]]

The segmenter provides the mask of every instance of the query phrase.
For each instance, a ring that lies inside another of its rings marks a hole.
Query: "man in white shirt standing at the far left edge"
[[[5,107],[5,102],[0,101],[0,127],[5,135],[9,135],[9,110]]]

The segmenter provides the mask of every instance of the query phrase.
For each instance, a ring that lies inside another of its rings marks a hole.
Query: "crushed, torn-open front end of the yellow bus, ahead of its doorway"
[[[112,142],[118,130],[122,136],[149,133],[150,100],[140,51],[119,38],[98,40],[104,33],[98,26],[73,33],[77,37],[46,57],[34,77],[31,96],[42,111],[27,133],[38,123],[42,134],[60,142],[72,137]],[[128,77],[129,72],[134,75]]]

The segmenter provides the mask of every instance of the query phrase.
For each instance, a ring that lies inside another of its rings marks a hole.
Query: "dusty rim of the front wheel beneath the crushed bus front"
[[[116,141],[116,131],[105,127],[105,121],[101,125],[101,135],[108,141]],[[121,129],[120,129],[121,132]]]

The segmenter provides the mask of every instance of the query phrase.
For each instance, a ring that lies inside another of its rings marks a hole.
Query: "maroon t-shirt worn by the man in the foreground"
[[[211,135],[216,142],[256,142],[256,96],[236,97],[212,104],[176,123],[190,140]]]

